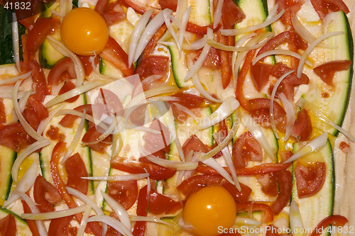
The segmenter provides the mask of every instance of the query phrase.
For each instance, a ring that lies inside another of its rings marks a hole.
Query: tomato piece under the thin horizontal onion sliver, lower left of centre
[[[107,184],[108,194],[120,203],[126,210],[131,208],[138,197],[136,180],[114,181]]]

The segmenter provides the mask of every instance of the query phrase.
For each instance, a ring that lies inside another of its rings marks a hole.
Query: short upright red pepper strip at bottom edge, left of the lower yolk
[[[138,203],[137,203],[137,215],[147,216],[148,213],[148,187],[144,186],[138,194]],[[143,236],[146,231],[146,221],[137,221],[134,224],[132,234],[134,236]]]

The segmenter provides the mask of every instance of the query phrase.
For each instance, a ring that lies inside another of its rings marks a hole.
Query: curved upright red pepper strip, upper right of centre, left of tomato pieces
[[[246,74],[248,74],[251,67],[251,62],[253,62],[253,57],[256,53],[256,50],[250,50],[246,54],[246,59],[244,60],[243,67],[241,67],[241,72],[239,73],[238,79],[236,80],[236,99],[241,103],[241,106],[249,110],[249,101],[244,96],[243,87],[244,81],[246,79]]]

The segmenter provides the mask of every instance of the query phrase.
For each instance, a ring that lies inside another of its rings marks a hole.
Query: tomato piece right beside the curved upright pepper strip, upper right
[[[272,64],[263,62],[256,62],[256,64],[251,65],[251,79],[253,79],[253,84],[258,91],[261,91],[268,84],[271,68],[273,68]]]

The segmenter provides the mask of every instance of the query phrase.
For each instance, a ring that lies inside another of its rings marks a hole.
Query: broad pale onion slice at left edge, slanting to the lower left
[[[23,174],[20,181],[18,181],[18,183],[16,184],[15,189],[13,189],[13,191],[11,191],[9,197],[4,202],[2,208],[7,208],[12,203],[17,201],[18,198],[20,198],[20,196],[18,196],[16,194],[16,192],[26,193],[26,191],[28,191],[28,189],[31,189],[33,184],[35,184],[35,179],[38,176],[39,165],[40,165],[39,158],[36,157],[33,160],[31,166],[28,167],[28,169],[26,170],[25,174]]]

